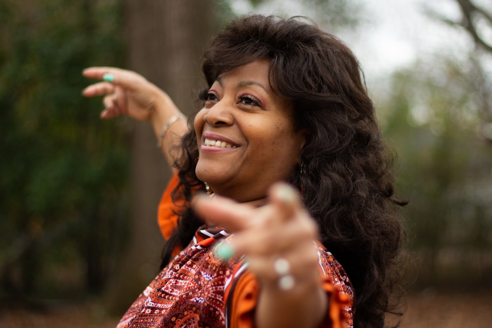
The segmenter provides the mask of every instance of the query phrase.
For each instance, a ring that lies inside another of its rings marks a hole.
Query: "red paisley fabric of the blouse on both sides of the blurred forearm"
[[[229,236],[219,228],[201,227],[190,244],[164,268],[133,302],[118,328],[126,327],[226,327],[226,288],[234,295],[236,281],[248,272],[241,257],[222,260],[215,252]],[[353,303],[353,292],[341,266],[316,244],[320,269],[341,296]],[[239,268],[239,270],[238,270]],[[241,298],[232,297],[235,302]],[[352,326],[352,309],[343,305],[343,327]],[[228,311],[229,315],[234,313]],[[252,316],[252,314],[251,314]],[[252,322],[252,320],[251,320]],[[323,326],[325,327],[325,326]]]

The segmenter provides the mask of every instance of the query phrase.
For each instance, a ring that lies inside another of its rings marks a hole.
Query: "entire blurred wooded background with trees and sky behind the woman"
[[[490,327],[490,0],[0,0],[1,328],[114,327],[158,270],[169,170],[148,123],[98,118],[82,69],[192,114],[203,50],[247,12],[308,16],[361,61],[410,201],[402,327]]]

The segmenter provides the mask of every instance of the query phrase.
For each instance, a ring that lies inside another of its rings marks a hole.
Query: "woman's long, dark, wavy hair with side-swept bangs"
[[[384,327],[387,313],[401,314],[392,306],[404,239],[395,205],[406,202],[394,196],[395,156],[381,140],[359,62],[337,37],[305,18],[250,15],[215,36],[202,68],[210,87],[221,73],[260,59],[270,60],[272,89],[292,101],[296,128],[307,131],[302,170],[288,182],[301,192],[320,241],[351,280],[354,326]],[[193,190],[204,190],[195,176],[194,131],[184,136],[182,147],[183,158],[176,162],[181,183],[173,197],[190,201]],[[189,207],[179,214],[162,265],[203,224]]]

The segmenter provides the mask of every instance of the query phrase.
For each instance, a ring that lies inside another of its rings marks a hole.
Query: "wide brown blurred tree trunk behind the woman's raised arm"
[[[196,108],[203,50],[215,31],[212,0],[127,0],[127,68],[164,89],[189,115]],[[170,178],[148,122],[135,122],[130,173],[130,239],[108,289],[113,311],[124,311],[158,272],[164,239],[156,224],[159,198]]]

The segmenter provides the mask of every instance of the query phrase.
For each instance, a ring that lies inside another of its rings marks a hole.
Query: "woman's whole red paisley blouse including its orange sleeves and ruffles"
[[[170,200],[170,182],[159,205],[159,225],[176,222]],[[167,194],[167,195],[166,195]],[[167,223],[162,223],[166,220]],[[168,237],[169,231],[162,229]],[[253,327],[259,285],[241,256],[228,260],[216,253],[222,242],[234,238],[220,228],[200,227],[193,240],[154,278],[121,319],[123,327]],[[353,326],[354,293],[348,277],[324,247],[313,242],[319,257],[329,308],[320,327]]]

